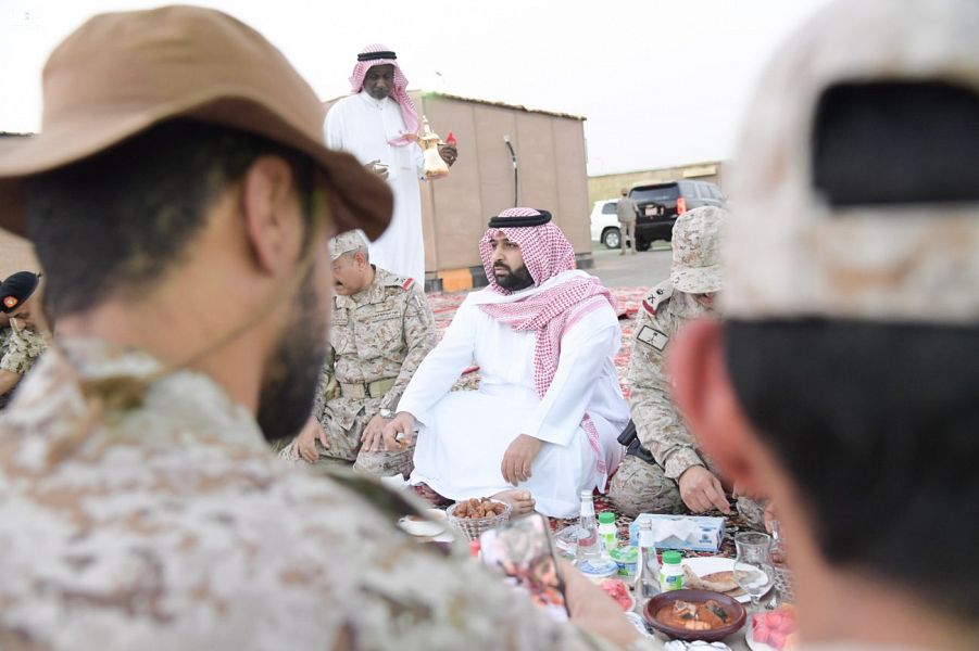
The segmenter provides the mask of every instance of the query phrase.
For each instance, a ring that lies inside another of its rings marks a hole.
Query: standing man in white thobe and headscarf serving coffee
[[[371,244],[371,260],[424,289],[422,149],[411,138],[421,120],[394,52],[379,44],[364,48],[350,76],[350,92],[326,115],[326,144],[352,153],[388,180],[394,192],[394,216],[384,235]],[[441,145],[439,153],[448,165],[459,156],[449,144]]]

